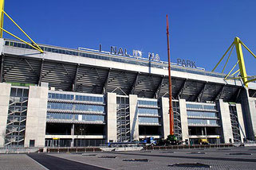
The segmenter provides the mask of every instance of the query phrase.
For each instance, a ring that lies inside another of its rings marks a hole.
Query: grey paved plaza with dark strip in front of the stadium
[[[148,170],[256,168],[256,147],[143,150],[118,153],[87,152],[1,154],[0,156],[0,169]]]

